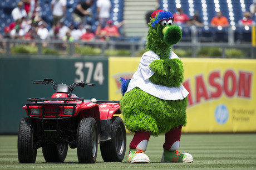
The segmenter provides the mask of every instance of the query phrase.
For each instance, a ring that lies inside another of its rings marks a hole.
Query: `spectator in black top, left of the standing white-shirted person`
[[[93,5],[93,0],[81,1],[77,4],[72,13],[73,22],[86,24],[85,16],[92,16],[90,7]]]

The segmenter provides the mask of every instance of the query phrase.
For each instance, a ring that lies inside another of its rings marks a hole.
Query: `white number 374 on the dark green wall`
[[[85,81],[86,83],[104,83],[104,68],[102,62],[75,62],[75,82]]]

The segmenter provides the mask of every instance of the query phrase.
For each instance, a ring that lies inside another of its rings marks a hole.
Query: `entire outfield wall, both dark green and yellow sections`
[[[256,132],[256,60],[181,58],[184,86],[190,92],[188,124],[183,132]],[[120,100],[120,77],[131,78],[140,58],[60,58],[55,56],[0,56],[0,134],[17,133],[22,106],[29,97],[50,97],[56,83],[95,83],[77,87],[79,97]]]

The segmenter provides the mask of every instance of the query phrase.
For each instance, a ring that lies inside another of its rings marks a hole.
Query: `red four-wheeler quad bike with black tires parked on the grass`
[[[95,163],[97,146],[105,162],[121,162],[126,151],[126,130],[119,101],[84,100],[72,94],[76,86],[91,83],[56,84],[52,79],[34,84],[51,84],[56,93],[50,98],[29,98],[22,108],[27,116],[18,130],[19,163],[35,163],[42,147],[46,162],[63,162],[68,145],[77,149],[78,162]]]

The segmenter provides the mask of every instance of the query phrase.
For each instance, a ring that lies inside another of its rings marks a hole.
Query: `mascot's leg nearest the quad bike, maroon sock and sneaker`
[[[146,151],[147,143],[149,142],[150,132],[135,132],[134,138],[130,143],[130,151],[127,158],[129,163],[149,163],[149,157],[142,153]]]

